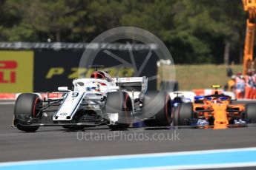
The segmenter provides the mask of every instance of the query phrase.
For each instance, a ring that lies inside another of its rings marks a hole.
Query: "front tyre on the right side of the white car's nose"
[[[132,103],[127,92],[110,92],[107,95],[105,106],[103,108],[105,114],[118,113],[116,124],[109,124],[109,128],[127,129],[131,125]]]

